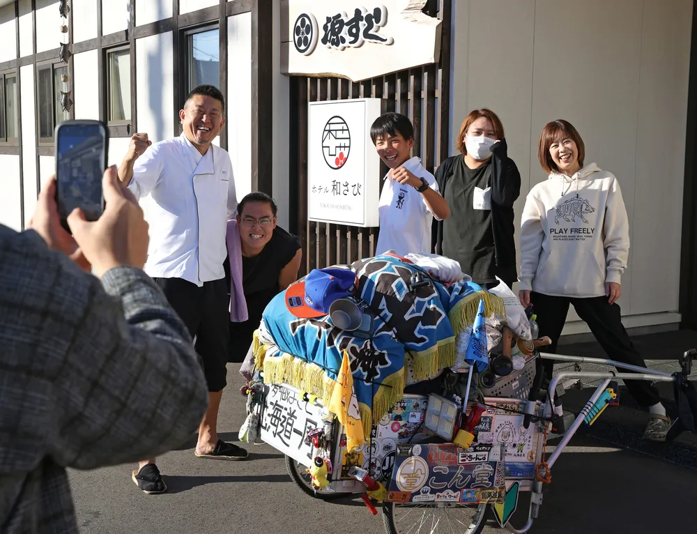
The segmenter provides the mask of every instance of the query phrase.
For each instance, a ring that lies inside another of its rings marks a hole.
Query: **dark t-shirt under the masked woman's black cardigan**
[[[462,272],[477,284],[496,282],[491,210],[473,208],[475,187],[486,189],[490,178],[491,162],[470,169],[461,157],[445,185],[450,217],[443,221],[443,255],[459,261]]]

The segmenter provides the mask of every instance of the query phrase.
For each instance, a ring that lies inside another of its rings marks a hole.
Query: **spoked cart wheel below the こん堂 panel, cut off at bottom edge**
[[[383,523],[388,534],[480,534],[487,510],[485,504],[383,503]]]

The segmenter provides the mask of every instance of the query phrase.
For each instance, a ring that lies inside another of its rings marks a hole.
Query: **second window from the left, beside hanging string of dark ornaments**
[[[63,76],[68,75],[68,67],[62,63],[49,63],[38,66],[36,70],[39,140],[52,142],[56,125],[68,119],[68,112],[61,107]]]

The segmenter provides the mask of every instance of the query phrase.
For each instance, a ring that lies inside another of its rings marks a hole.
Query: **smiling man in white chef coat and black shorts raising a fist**
[[[217,413],[227,385],[229,297],[223,264],[227,221],[237,209],[230,156],[213,139],[225,124],[222,93],[195,88],[179,112],[179,137],[152,144],[132,136],[118,178],[138,199],[150,195],[150,248],[145,272],[164,291],[194,337],[208,382],[209,406],[199,427],[197,457],[246,459],[247,451],[217,436]],[[162,362],[162,373],[168,363]],[[144,421],[143,429],[157,425]],[[141,461],[132,480],[148,493],[166,491],[155,459]]]

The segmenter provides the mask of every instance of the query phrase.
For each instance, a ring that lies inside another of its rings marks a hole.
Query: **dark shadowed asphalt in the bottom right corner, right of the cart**
[[[687,510],[694,507],[697,473],[629,450],[582,452],[581,443],[574,445],[552,468],[531,532],[694,532]],[[525,524],[529,503],[528,495],[521,496],[512,526]]]

